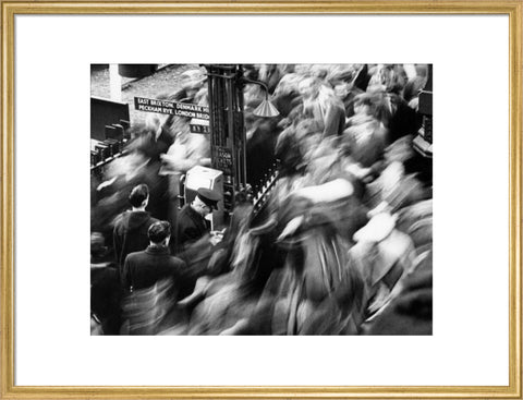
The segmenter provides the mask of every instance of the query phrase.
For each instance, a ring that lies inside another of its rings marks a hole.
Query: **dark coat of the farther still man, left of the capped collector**
[[[118,216],[114,223],[113,240],[120,272],[127,254],[147,249],[149,244],[147,230],[157,221],[147,211],[125,211]]]

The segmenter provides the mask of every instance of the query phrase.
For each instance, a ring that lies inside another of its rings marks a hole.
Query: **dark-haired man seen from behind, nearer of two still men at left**
[[[185,263],[169,253],[171,225],[157,221],[148,229],[149,245],[145,251],[131,253],[123,266],[124,288],[129,291],[147,289],[160,280],[172,279],[175,287],[183,284]]]

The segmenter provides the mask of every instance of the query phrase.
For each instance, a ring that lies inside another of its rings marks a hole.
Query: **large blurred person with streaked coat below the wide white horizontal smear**
[[[330,193],[336,193],[332,189]],[[345,191],[339,189],[340,194]],[[287,256],[281,274],[275,271],[279,283],[273,335],[358,332],[365,304],[364,280],[348,257],[348,242],[335,223],[335,214],[339,213],[332,213],[330,204],[325,206],[330,194],[317,194],[318,203],[312,201],[314,195],[301,201],[294,197],[294,208],[283,207],[280,214],[283,229],[277,243],[287,250]],[[343,198],[344,193],[338,201]]]

